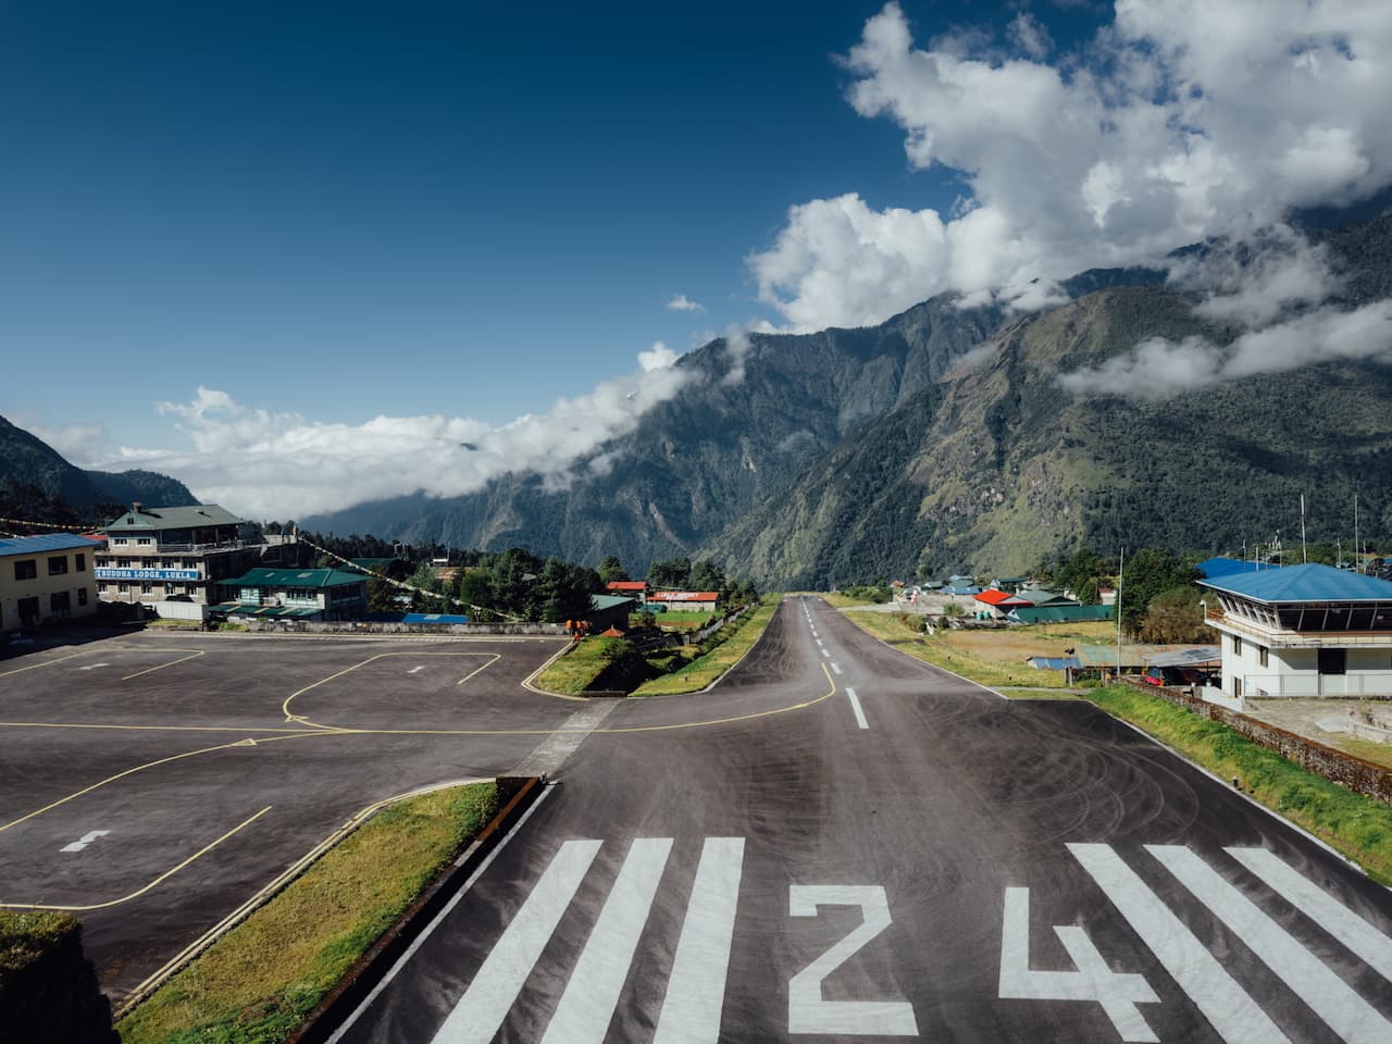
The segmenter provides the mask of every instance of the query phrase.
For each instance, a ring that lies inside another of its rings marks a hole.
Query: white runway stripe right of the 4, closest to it
[[[1068,851],[1107,892],[1126,923],[1151,948],[1179,988],[1212,1023],[1226,1044],[1274,1044],[1288,1041],[1276,1025],[1257,1006],[1217,958],[1204,949],[1134,870],[1107,845],[1069,845]]]

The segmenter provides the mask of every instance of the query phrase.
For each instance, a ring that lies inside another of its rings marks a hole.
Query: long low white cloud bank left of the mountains
[[[305,518],[415,491],[454,497],[511,472],[540,475],[548,489],[558,489],[576,473],[606,473],[612,457],[604,444],[632,432],[646,411],[689,379],[660,342],[640,358],[639,372],[503,427],[440,415],[326,423],[246,406],[200,387],[189,402],[159,406],[178,418],[188,447],[122,447],[116,459],[92,466],[166,472],[200,500],[262,519]]]

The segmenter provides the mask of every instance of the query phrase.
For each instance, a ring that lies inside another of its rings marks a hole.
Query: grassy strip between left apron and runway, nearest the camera
[[[379,813],[124,1018],[121,1040],[285,1040],[497,806],[497,788],[487,782]]]

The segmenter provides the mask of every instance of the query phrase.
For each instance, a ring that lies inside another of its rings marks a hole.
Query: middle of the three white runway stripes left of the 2
[[[628,849],[541,1044],[604,1040],[671,851],[671,838],[638,838]]]

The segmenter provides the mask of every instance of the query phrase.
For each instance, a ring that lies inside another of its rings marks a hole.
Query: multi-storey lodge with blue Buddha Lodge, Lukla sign
[[[264,550],[248,529],[217,504],[132,504],[102,530],[107,546],[96,560],[97,594],[102,601],[216,604],[217,583],[241,576]]]

